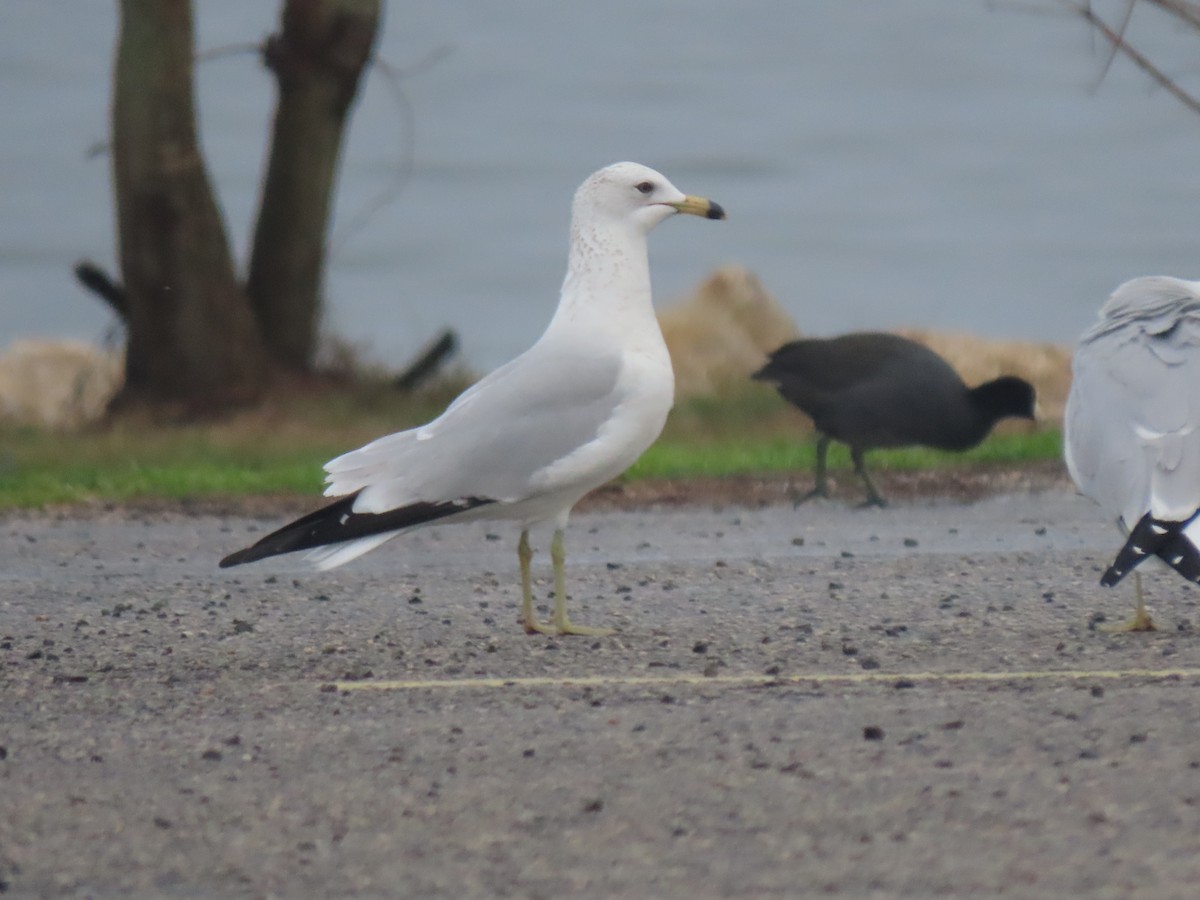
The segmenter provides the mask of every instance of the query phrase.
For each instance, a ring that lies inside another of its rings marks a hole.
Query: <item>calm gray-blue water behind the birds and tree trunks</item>
[[[262,38],[278,6],[196,5],[200,49]],[[380,52],[407,72],[410,119],[371,77],[326,284],[330,328],[373,359],[398,365],[448,324],[478,368],[528,346],[557,299],[571,192],[623,158],[730,211],[655,232],[660,305],[737,262],[814,334],[1073,341],[1121,281],[1200,277],[1200,116],[1122,61],[1093,90],[1104,54],[1074,18],[985,0],[388,6]],[[68,266],[114,258],[108,160],[88,152],[106,139],[114,8],[0,10],[0,344],[112,325]],[[1134,36],[1196,86],[1200,41],[1151,13]],[[253,55],[202,66],[241,259],[271,102]],[[402,163],[398,198],[347,235]]]

